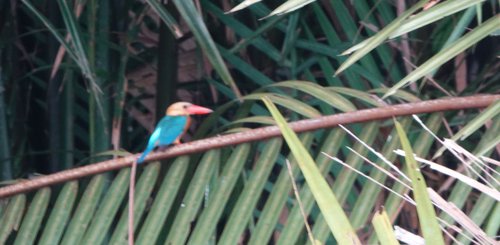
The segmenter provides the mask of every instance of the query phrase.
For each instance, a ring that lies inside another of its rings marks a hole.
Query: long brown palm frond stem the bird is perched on
[[[477,95],[470,97],[429,100],[306,119],[292,122],[290,123],[290,126],[296,132],[305,132],[323,128],[331,128],[339,124],[381,120],[395,116],[406,116],[412,114],[431,113],[448,110],[483,108],[487,107],[495,100],[500,100],[500,95]],[[149,154],[149,156],[146,158],[146,161],[154,161],[172,158],[180,155],[188,155],[246,142],[261,141],[280,135],[281,132],[276,126],[262,127],[245,132],[216,136],[172,146],[167,148],[165,151]],[[49,185],[54,185],[57,183],[79,179],[85,176],[125,168],[130,166],[132,162],[134,162],[136,158],[139,157],[139,155],[140,154],[134,154],[120,159],[107,160],[104,162],[99,162],[83,167],[64,170],[51,175],[38,177],[29,181],[22,181],[10,186],[0,188],[0,198],[12,196]]]

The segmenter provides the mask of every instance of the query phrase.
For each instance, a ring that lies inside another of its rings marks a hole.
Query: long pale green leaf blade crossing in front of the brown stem
[[[300,143],[299,138],[288,126],[272,101],[267,97],[263,97],[262,100],[276,120],[276,123],[283,133],[283,137],[297,159],[302,174],[311,188],[321,213],[327,221],[337,242],[339,244],[361,244],[356,232],[352,229],[349,219],[342,210],[342,206],[337,201],[330,186],[316,167],[309,152]]]

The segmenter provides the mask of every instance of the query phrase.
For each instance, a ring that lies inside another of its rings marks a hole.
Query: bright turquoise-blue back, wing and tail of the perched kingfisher
[[[137,163],[142,163],[155,146],[172,144],[184,132],[187,123],[188,116],[164,116],[149,137],[146,150],[144,150],[141,157],[137,160]]]

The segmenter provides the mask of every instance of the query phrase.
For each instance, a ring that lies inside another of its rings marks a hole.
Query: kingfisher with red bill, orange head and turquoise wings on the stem
[[[137,160],[142,163],[144,158],[156,147],[180,144],[181,137],[191,125],[189,115],[203,115],[211,113],[212,110],[191,104],[189,102],[177,102],[167,108],[166,115],[158,122],[155,130],[149,137],[146,150]]]

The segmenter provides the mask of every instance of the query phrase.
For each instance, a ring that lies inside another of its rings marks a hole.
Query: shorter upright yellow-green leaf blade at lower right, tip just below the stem
[[[443,234],[437,222],[436,211],[427,193],[425,179],[420,172],[420,166],[417,165],[413,156],[413,149],[410,145],[406,133],[398,121],[395,121],[396,130],[403,150],[405,151],[405,160],[408,174],[412,181],[413,197],[417,203],[417,214],[420,221],[420,229],[424,235],[426,244],[444,245]]]

